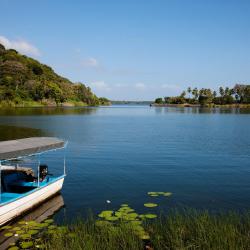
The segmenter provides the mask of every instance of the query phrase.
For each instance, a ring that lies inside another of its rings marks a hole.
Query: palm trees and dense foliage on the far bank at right
[[[183,91],[179,96],[156,98],[156,104],[198,104],[198,105],[226,105],[250,104],[250,85],[236,84],[234,88],[220,87],[219,91],[211,89],[191,89]]]

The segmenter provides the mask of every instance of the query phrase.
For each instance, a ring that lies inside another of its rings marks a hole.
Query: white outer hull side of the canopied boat
[[[62,189],[64,177],[49,183],[46,186],[35,189],[29,194],[12,202],[0,206],[0,225],[18,217],[25,211],[38,205]]]

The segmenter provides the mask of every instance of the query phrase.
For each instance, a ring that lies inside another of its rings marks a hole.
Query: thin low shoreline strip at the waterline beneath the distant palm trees
[[[206,108],[250,108],[250,104],[224,104],[224,105],[218,105],[218,104],[210,104],[210,105],[200,105],[200,104],[189,104],[189,103],[183,103],[183,104],[158,104],[158,103],[151,103],[151,107],[206,107]]]

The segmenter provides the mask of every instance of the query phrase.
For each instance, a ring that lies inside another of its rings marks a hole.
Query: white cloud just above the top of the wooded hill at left
[[[23,54],[33,56],[39,56],[41,54],[38,48],[23,39],[9,40],[5,36],[0,36],[0,43],[3,44],[6,49],[15,49]]]

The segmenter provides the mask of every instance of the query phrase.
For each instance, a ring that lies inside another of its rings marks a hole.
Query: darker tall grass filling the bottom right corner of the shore
[[[154,249],[249,249],[250,213],[175,211],[146,230]]]

